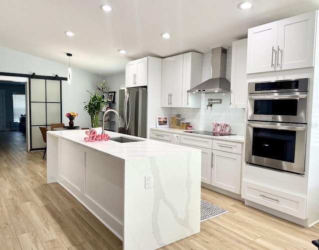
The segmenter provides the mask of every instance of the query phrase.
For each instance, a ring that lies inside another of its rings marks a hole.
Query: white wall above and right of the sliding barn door
[[[83,102],[89,100],[89,93],[86,90],[94,93],[97,90],[96,84],[104,77],[72,67],[72,59],[70,65],[72,68],[71,84],[62,81],[62,122],[67,124],[68,119],[64,114],[74,111],[79,113],[79,116],[75,118],[75,125],[89,127],[90,116],[83,110]],[[36,75],[67,77],[67,68],[68,65],[0,47],[0,72],[20,74],[34,72]]]

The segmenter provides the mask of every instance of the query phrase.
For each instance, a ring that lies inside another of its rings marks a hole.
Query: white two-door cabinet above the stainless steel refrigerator
[[[148,57],[130,61],[125,69],[125,87],[141,87],[148,85]]]

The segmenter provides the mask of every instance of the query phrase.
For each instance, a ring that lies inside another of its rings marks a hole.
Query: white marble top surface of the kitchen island
[[[176,152],[188,152],[192,150],[189,147],[178,146],[174,144],[167,144],[164,142],[159,142],[155,140],[140,138],[131,135],[124,135],[116,132],[108,131],[107,134],[112,137],[127,137],[138,139],[138,142],[127,142],[120,143],[116,141],[98,141],[98,142],[85,142],[84,138],[88,137],[85,132],[87,130],[58,130],[58,131],[48,131],[50,135],[54,135],[75,144],[83,145],[93,150],[104,152],[108,155],[127,160],[140,157],[150,157],[158,155],[168,155],[174,154]]]

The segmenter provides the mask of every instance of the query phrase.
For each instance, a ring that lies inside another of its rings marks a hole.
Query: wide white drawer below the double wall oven
[[[306,219],[306,197],[252,182],[242,182],[242,198],[265,207]]]

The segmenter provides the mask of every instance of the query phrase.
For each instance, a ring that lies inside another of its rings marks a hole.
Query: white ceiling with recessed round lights
[[[0,0],[0,47],[65,65],[72,53],[71,67],[111,75],[144,56],[228,48],[247,37],[247,28],[319,9],[319,0],[252,0],[252,9],[241,10],[242,1]]]

